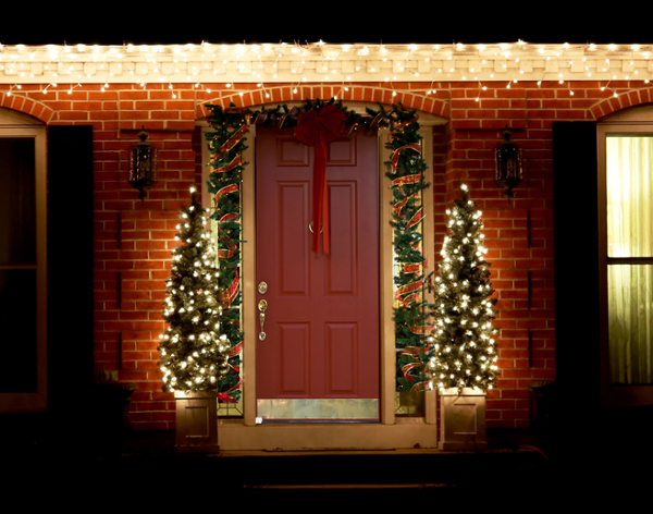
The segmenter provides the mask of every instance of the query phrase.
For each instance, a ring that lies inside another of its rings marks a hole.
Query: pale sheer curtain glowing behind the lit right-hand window
[[[611,382],[650,384],[653,383],[653,137],[607,137],[606,164]]]

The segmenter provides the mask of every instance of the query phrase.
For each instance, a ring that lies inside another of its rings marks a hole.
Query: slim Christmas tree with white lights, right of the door
[[[435,278],[432,379],[440,390],[492,389],[498,376],[493,339],[495,298],[484,254],[481,211],[469,199],[465,184],[460,198],[447,209],[440,276]]]

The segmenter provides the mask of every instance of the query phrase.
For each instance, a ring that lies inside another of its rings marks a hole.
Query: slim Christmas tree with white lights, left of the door
[[[220,333],[221,295],[218,285],[215,241],[206,230],[195,187],[192,203],[182,207],[172,252],[168,298],[163,319],[169,328],[161,336],[159,366],[163,391],[217,391],[227,371],[230,343]]]

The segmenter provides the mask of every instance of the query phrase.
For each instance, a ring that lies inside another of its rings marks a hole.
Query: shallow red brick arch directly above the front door
[[[235,103],[237,107],[254,107],[266,103],[304,101],[307,98],[329,99],[337,96],[338,99],[344,101],[380,102],[384,105],[401,102],[404,107],[415,109],[416,111],[427,112],[445,119],[449,118],[448,102],[424,94],[401,90],[395,91],[390,87],[365,84],[356,84],[347,87],[348,90],[345,91],[342,85],[307,84],[297,87],[297,93],[293,93],[295,89],[295,86],[293,85],[280,85],[256,90],[236,90],[232,94],[222,95],[198,105],[196,117],[197,119],[207,117],[209,112],[207,111],[205,103],[212,103],[223,108],[229,107],[231,102]],[[396,93],[396,95],[393,96],[393,93]],[[269,97],[266,96],[266,94],[268,94]]]

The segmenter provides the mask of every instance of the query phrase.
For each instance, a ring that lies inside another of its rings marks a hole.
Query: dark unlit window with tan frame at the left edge
[[[0,109],[0,412],[46,407],[46,131]]]

